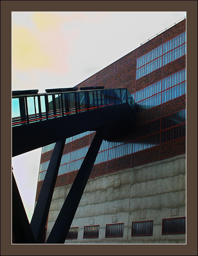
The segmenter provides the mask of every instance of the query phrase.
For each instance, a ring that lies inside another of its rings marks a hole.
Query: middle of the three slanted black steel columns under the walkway
[[[31,228],[35,241],[41,244],[43,241],[47,216],[50,209],[51,199],[54,193],[54,187],[57,180],[58,170],[61,163],[65,139],[56,142],[42,188],[39,193],[38,201],[31,219]]]

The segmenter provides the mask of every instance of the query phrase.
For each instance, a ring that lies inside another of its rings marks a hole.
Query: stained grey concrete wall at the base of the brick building
[[[69,192],[71,184],[55,188],[50,207],[47,236]],[[171,208],[179,208],[171,216]],[[140,219],[140,212],[146,218]],[[124,223],[124,235],[105,238],[106,224]],[[186,216],[186,154],[109,173],[88,180],[71,227],[79,227],[77,240],[69,244],[175,244],[186,243],[186,235],[162,235],[162,219]],[[84,226],[100,225],[99,238],[83,239]],[[133,221],[154,221],[153,236],[131,237]]]

